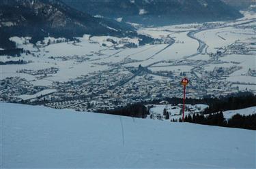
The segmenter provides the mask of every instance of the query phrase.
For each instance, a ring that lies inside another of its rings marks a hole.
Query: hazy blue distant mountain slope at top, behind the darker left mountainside
[[[92,15],[123,18],[126,22],[173,24],[230,20],[242,17],[220,0],[63,0]]]

